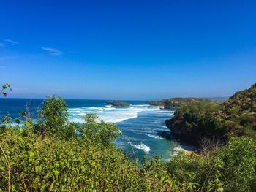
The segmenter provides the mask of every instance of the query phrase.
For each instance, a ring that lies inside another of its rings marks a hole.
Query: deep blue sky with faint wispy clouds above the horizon
[[[256,82],[256,1],[1,1],[11,97],[230,96]]]

